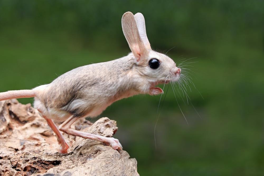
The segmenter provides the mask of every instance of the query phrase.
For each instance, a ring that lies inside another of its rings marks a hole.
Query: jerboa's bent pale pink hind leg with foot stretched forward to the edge
[[[74,117],[74,116],[68,118],[65,122],[63,122],[59,126],[59,130],[65,132],[68,135],[79,136],[79,137],[82,137],[85,139],[93,139],[93,140],[100,141],[106,145],[110,145],[115,150],[122,149],[122,145],[120,144],[119,140],[115,139],[114,137],[104,137],[104,136],[94,135],[91,133],[86,133],[86,132],[82,132],[82,131],[72,129],[70,126],[77,119],[78,118]]]

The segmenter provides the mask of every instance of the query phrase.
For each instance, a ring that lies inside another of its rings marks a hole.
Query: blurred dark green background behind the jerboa
[[[126,55],[121,17],[141,12],[154,50],[174,47],[168,56],[177,64],[194,58],[186,67],[203,98],[189,84],[200,118],[177,91],[187,125],[169,87],[157,149],[159,96],[122,99],[100,115],[117,121],[115,137],[138,161],[139,174],[264,175],[263,9],[264,1],[255,0],[0,0],[0,92],[31,89],[78,66]]]

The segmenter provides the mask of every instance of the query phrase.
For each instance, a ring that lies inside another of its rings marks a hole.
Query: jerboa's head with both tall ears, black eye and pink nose
[[[146,34],[145,20],[141,13],[126,12],[122,17],[122,29],[134,55],[138,73],[154,88],[160,83],[175,82],[181,69],[168,56],[153,51]],[[162,90],[159,90],[162,93]]]

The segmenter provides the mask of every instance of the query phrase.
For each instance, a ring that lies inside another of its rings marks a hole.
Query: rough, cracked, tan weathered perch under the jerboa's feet
[[[107,117],[94,124],[84,119],[77,130],[112,137],[116,121]],[[68,154],[59,145],[44,118],[29,104],[0,101],[0,175],[138,175],[136,160],[124,150],[99,141],[64,134]]]

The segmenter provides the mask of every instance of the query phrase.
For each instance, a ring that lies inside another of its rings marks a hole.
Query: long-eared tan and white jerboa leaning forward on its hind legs
[[[175,82],[181,73],[171,58],[151,49],[141,13],[124,13],[122,30],[132,51],[127,56],[78,67],[50,84],[31,90],[0,93],[0,101],[34,97],[34,107],[58,137],[60,153],[67,153],[69,148],[60,131],[122,149],[117,139],[77,131],[70,126],[78,118],[100,115],[110,104],[122,98],[161,94],[163,90],[155,85]],[[64,122],[57,127],[53,120]]]

